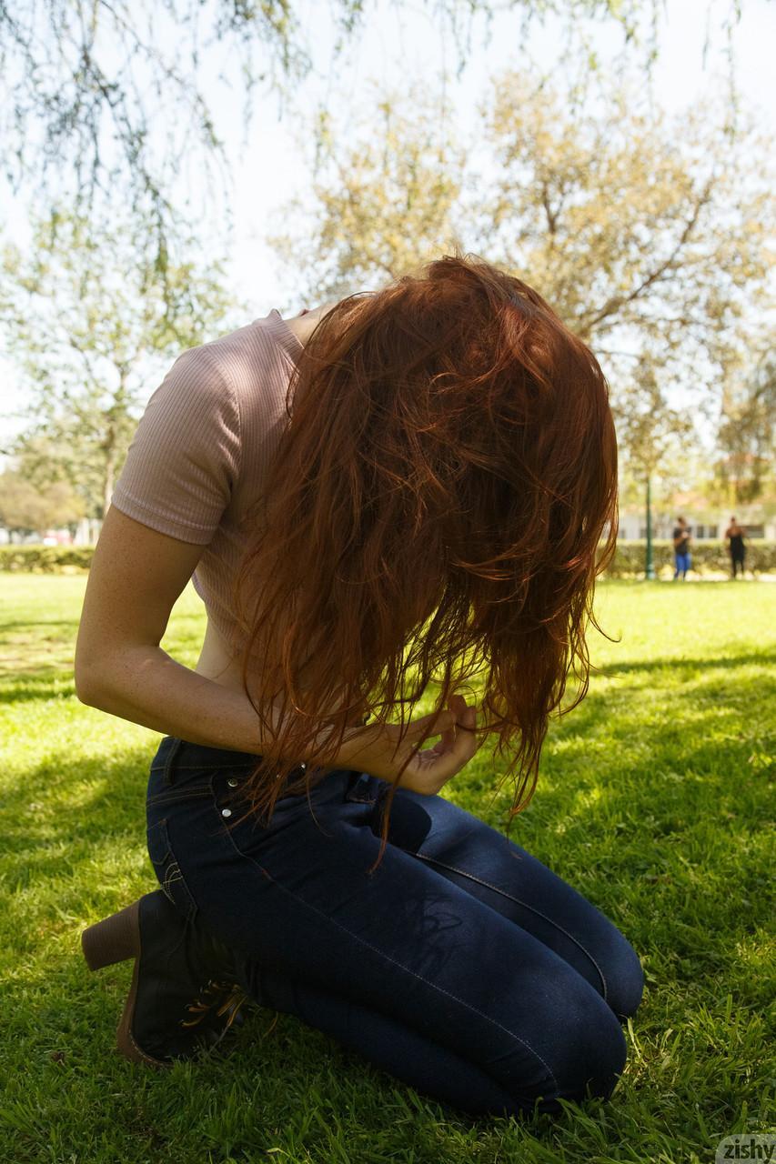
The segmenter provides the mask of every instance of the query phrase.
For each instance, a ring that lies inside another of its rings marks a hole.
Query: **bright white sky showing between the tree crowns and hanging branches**
[[[719,23],[727,0],[666,0],[666,15],[659,30],[659,57],[654,71],[654,93],[669,111],[686,107],[694,99],[727,85],[728,63],[725,40]],[[467,132],[475,118],[477,102],[489,88],[492,78],[506,69],[525,66],[524,50],[541,71],[551,68],[557,58],[559,29],[555,21],[534,28],[528,43],[518,35],[520,17],[501,13],[491,24],[487,47],[482,43],[484,23],[474,22],[471,56],[460,78],[456,76],[458,50],[452,35],[439,35],[438,26],[417,6],[410,10],[395,2],[381,0],[368,24],[360,34],[358,47],[348,50],[340,61],[337,77],[332,78],[326,65],[331,59],[332,30],[329,6],[316,0],[299,3],[304,27],[309,29],[310,51],[315,69],[298,87],[292,100],[285,100],[282,115],[278,99],[261,95],[256,90],[256,111],[247,146],[241,142],[239,119],[232,106],[234,97],[225,90],[212,90],[217,126],[226,136],[230,150],[238,158],[234,171],[233,213],[235,234],[231,254],[231,272],[235,290],[251,304],[249,319],[267,314],[277,307],[283,315],[296,314],[303,306],[301,290],[294,286],[291,272],[278,267],[278,260],[263,242],[266,215],[302,194],[308,180],[303,155],[294,132],[304,133],[305,119],[322,98],[332,109],[334,126],[345,127],[348,111],[358,108],[359,95],[369,102],[372,90],[366,83],[374,79],[387,86],[398,86],[403,80],[440,79],[446,73],[445,88],[457,109],[461,130]],[[711,44],[704,59],[704,41]],[[600,22],[590,24],[590,38],[604,62],[621,45],[622,34],[616,27]],[[763,127],[776,129],[776,86],[774,85],[773,48],[776,44],[776,3],[771,0],[743,0],[743,16],[734,31],[736,77],[747,105],[760,111]],[[522,52],[521,52],[522,48]],[[234,126],[227,133],[227,127]],[[2,191],[0,190],[0,196]],[[2,201],[0,200],[0,205]],[[23,208],[8,205],[8,233],[23,236]],[[465,240],[464,240],[465,241]],[[17,406],[22,385],[7,360],[0,363],[0,440],[17,432],[19,420],[8,413]],[[148,385],[148,395],[154,390]]]

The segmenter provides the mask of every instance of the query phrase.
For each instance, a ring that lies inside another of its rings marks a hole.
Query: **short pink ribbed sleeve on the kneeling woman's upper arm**
[[[216,357],[191,348],[146,405],[111,503],[151,530],[207,545],[239,470],[234,391]]]

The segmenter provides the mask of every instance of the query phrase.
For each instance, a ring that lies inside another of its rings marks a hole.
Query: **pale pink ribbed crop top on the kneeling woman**
[[[241,521],[288,424],[285,391],[302,350],[273,307],[184,352],[150,397],[113,490],[122,513],[206,547],[193,587],[234,653],[241,637],[230,595],[246,549]]]

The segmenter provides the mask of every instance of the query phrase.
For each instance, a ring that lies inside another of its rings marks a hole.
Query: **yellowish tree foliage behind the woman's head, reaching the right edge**
[[[283,212],[301,225],[270,237],[304,298],[376,289],[464,240],[537,288],[626,409],[639,349],[661,390],[682,376],[719,402],[717,364],[771,297],[773,144],[754,119],[731,137],[719,100],[669,116],[633,77],[514,70],[467,139],[422,97],[375,92],[347,133],[320,119],[316,178]]]

